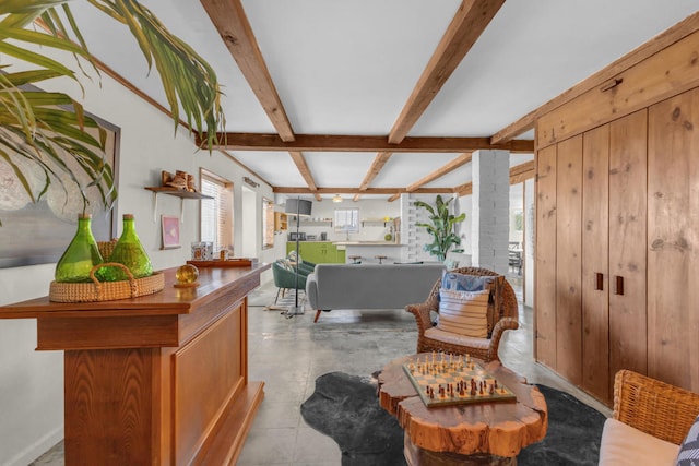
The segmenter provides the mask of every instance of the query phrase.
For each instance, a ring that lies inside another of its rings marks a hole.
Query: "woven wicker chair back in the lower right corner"
[[[680,444],[699,414],[699,394],[620,370],[614,379],[614,418],[661,440]]]

